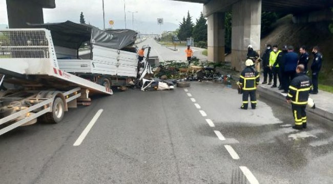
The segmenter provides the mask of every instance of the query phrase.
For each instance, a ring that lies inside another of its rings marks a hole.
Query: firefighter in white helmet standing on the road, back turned
[[[243,93],[243,105],[241,109],[247,109],[248,106],[248,96],[251,99],[252,109],[256,109],[257,99],[256,99],[256,89],[259,84],[259,73],[253,68],[253,61],[247,59],[245,61],[246,68],[240,75],[238,85],[242,89]]]

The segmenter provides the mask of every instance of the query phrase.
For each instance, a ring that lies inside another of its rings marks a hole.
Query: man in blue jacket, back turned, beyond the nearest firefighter
[[[288,46],[288,53],[285,55],[284,62],[284,75],[283,81],[284,91],[283,93],[288,93],[288,86],[290,81],[292,81],[296,75],[296,67],[298,63],[298,54],[294,52],[294,47],[292,45]]]

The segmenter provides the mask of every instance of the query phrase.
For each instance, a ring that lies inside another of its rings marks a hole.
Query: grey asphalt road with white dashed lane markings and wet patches
[[[0,183],[332,183],[331,122],[309,116],[299,131],[286,104],[240,105],[211,82],[94,97],[61,123],[0,136]]]

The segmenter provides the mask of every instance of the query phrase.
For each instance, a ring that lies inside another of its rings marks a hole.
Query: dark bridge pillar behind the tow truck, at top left
[[[27,22],[44,23],[43,8],[55,8],[55,0],[7,0],[9,28],[29,28]]]

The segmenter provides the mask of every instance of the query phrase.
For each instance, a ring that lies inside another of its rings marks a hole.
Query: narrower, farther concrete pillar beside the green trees
[[[213,13],[207,17],[208,60],[224,62],[224,13]]]

